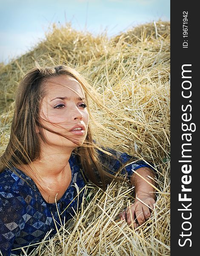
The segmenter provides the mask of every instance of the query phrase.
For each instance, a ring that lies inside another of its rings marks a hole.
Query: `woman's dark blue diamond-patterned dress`
[[[108,158],[101,152],[100,160],[114,174],[120,168],[121,163],[129,161],[131,156],[115,151],[112,153],[117,156],[117,159]],[[60,228],[58,211],[61,214],[77,196],[74,183],[79,187],[79,191],[86,185],[80,171],[82,168],[79,157],[76,154],[71,154],[69,164],[71,183],[63,197],[57,201],[57,206],[47,203],[34,181],[19,169],[15,169],[17,174],[9,169],[0,173],[0,250],[3,256],[20,255],[21,249],[13,249],[40,242],[51,229],[53,231],[50,235],[54,235],[56,229],[53,217],[58,223],[58,229]],[[133,173],[131,169],[136,170],[140,167],[150,166],[139,160],[127,166],[126,170],[123,169],[122,173],[127,172],[128,177],[130,177]],[[79,195],[80,203],[82,199],[83,191]],[[64,217],[67,221],[74,215],[72,207],[75,210],[80,207],[80,204],[77,206],[77,198],[60,215],[62,222]]]

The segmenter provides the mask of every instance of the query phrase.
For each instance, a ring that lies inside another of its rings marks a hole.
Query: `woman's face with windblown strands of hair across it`
[[[56,76],[43,85],[46,96],[41,102],[40,122],[44,128],[38,129],[45,142],[55,148],[76,148],[86,139],[89,114],[86,99],[80,83],[71,76]]]

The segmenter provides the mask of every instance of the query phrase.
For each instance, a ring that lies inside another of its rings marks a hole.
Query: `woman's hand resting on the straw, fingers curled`
[[[154,203],[155,200],[154,198],[146,198],[146,199],[141,199],[145,204],[140,202],[139,200],[136,199],[134,204],[131,204],[131,213],[129,207],[127,207],[126,210],[120,213],[120,219],[125,220],[128,224],[131,224],[131,215],[133,219],[133,225],[134,227],[137,227],[137,224],[142,225],[145,221],[147,221],[150,216],[152,209],[154,208]]]

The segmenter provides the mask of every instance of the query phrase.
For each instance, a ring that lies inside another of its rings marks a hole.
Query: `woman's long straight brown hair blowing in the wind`
[[[22,164],[29,165],[40,157],[41,134],[39,135],[37,133],[36,127],[43,127],[51,131],[39,122],[41,100],[45,96],[45,90],[42,84],[49,78],[61,75],[71,76],[76,79],[86,92],[87,101],[87,93],[89,93],[91,88],[86,79],[76,70],[66,65],[40,67],[37,64],[37,67],[30,70],[20,81],[15,99],[10,140],[6,151],[0,158],[0,172],[8,167],[13,169],[13,167]],[[91,115],[90,111],[89,115]],[[59,134],[55,131],[51,132]],[[63,134],[59,135],[65,137]],[[97,186],[105,188],[109,182],[108,177],[113,176],[108,175],[105,169],[102,168],[97,154],[97,148],[99,147],[94,143],[89,124],[86,140],[82,146],[77,148],[76,153],[80,157],[84,173],[89,180]],[[94,170],[99,174],[100,180],[97,179]]]

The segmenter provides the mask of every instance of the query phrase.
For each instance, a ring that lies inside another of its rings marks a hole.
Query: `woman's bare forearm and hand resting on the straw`
[[[135,186],[135,202],[120,214],[120,219],[125,219],[128,224],[131,224],[131,215],[134,221],[134,227],[143,224],[151,215],[155,203],[155,189],[149,183],[155,186],[155,173],[148,167],[137,169],[137,173],[131,176],[131,184]],[[148,177],[150,176],[150,177]],[[152,179],[151,179],[152,178]],[[149,183],[146,182],[149,181]],[[130,212],[131,211],[131,212]],[[137,221],[136,221],[137,219]]]

